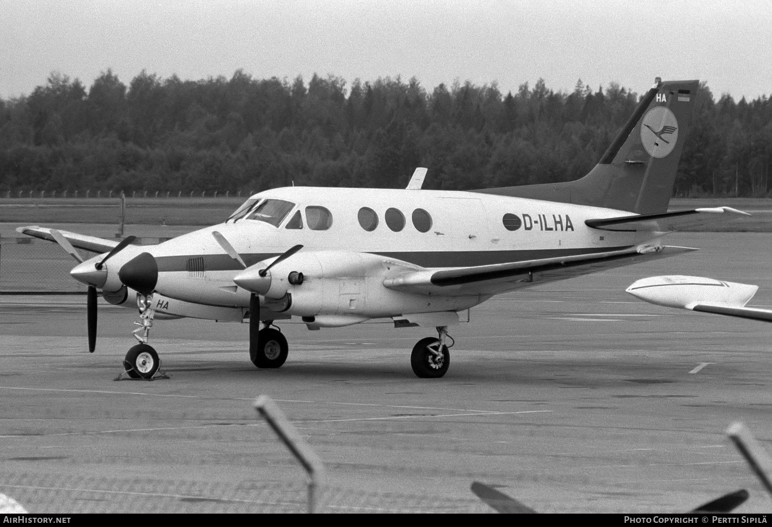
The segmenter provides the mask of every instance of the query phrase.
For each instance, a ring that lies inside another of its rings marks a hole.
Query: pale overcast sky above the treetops
[[[427,90],[469,80],[506,93],[615,81],[638,93],[655,76],[701,79],[714,95],[772,94],[770,0],[0,0],[0,97],[29,94],[52,71],[90,86],[113,69],[181,79],[348,81],[418,78]]]

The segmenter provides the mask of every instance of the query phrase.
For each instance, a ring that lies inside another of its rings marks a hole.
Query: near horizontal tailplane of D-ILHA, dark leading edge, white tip
[[[706,227],[728,221],[747,212],[731,207],[695,208],[689,211],[663,212],[662,214],[618,216],[584,221],[585,225],[604,231],[679,231],[684,228]]]

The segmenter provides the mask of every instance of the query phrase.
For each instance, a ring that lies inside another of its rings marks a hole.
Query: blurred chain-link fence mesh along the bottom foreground
[[[263,513],[306,512],[307,489],[300,482],[234,483],[156,479],[95,478],[0,472],[0,493],[37,513]],[[438,495],[363,492],[323,486],[321,513],[488,513],[471,492],[458,499]]]

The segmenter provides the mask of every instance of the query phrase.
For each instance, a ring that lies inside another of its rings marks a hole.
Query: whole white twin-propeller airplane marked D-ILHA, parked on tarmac
[[[253,195],[208,228],[158,245],[131,245],[50,228],[26,235],[59,243],[88,285],[89,348],[97,289],[113,304],[136,296],[141,328],[124,366],[151,378],[154,318],[249,319],[249,357],[259,368],[286,360],[274,323],[309,329],[389,318],[435,326],[411,367],[442,377],[448,326],[494,295],[692,249],[662,245],[682,225],[744,214],[731,208],[668,212],[698,82],[656,83],[598,164],[577,181],[479,191],[422,190],[418,168],[404,190],[283,187]],[[83,261],[76,248],[105,253]]]

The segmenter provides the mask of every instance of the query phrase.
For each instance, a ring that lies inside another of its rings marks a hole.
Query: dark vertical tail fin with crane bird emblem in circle
[[[696,99],[697,80],[659,77],[598,164],[577,181],[480,189],[478,192],[614,208],[667,211]]]

